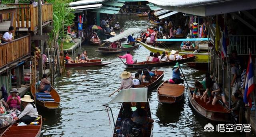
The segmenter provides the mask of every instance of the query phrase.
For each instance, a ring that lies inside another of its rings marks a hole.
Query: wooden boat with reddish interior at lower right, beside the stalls
[[[224,108],[224,106],[218,103],[216,103],[214,106],[211,103],[206,105],[206,102],[204,102],[203,100],[200,100],[200,98],[195,98],[194,100],[192,100],[193,93],[194,93],[194,88],[189,88],[189,91],[188,91],[189,102],[198,114],[212,121],[222,121],[222,122],[232,121],[230,113],[227,113],[227,109]]]

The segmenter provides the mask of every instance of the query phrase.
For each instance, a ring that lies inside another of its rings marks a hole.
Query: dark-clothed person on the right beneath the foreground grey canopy
[[[145,125],[148,122],[154,122],[152,118],[148,117],[146,110],[141,108],[140,102],[136,102],[136,110],[132,112],[132,121],[137,125]]]

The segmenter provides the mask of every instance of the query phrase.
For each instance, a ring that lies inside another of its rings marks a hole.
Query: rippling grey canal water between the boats
[[[146,18],[134,16],[117,16],[122,28],[136,27],[145,30],[150,24]],[[177,48],[177,47],[176,47]],[[112,100],[116,94],[109,94],[121,84],[120,74],[125,65],[116,55],[101,55],[96,52],[97,46],[82,45],[76,50],[88,51],[89,59],[111,61],[105,67],[68,68],[66,73],[55,80],[55,88],[61,97],[60,108],[54,112],[39,111],[43,115],[42,137],[111,137],[114,125],[109,121],[106,108],[102,104]],[[143,46],[131,51],[134,59],[145,61],[149,55]],[[76,54],[72,56],[74,59]],[[124,53],[120,54],[123,55]],[[163,80],[172,77],[171,67],[156,67],[165,70]],[[156,69],[153,68],[153,69]],[[182,67],[188,84],[193,86],[194,80],[202,80],[205,72]],[[132,74],[136,70],[127,70]],[[152,118],[154,119],[154,137],[240,137],[241,133],[205,132],[204,126],[209,122],[200,117],[189,105],[187,90],[184,100],[175,105],[161,105],[155,90],[148,93]],[[110,105],[116,120],[120,104]],[[111,119],[111,117],[110,117]],[[214,123],[212,123],[214,125]],[[216,124],[216,123],[215,123]]]

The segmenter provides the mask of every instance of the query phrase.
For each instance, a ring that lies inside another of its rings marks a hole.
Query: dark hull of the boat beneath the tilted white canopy
[[[116,54],[125,51],[131,51],[132,49],[136,49],[140,46],[140,44],[136,45],[122,45],[122,48],[110,48],[110,47],[98,47],[98,50],[95,50],[102,54]]]

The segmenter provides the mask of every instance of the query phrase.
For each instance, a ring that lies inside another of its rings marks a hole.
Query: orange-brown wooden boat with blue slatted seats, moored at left
[[[36,84],[31,84],[30,91],[34,100],[36,100],[36,106],[40,106],[47,110],[56,110],[60,106],[60,95],[51,86],[50,93],[37,92]]]

